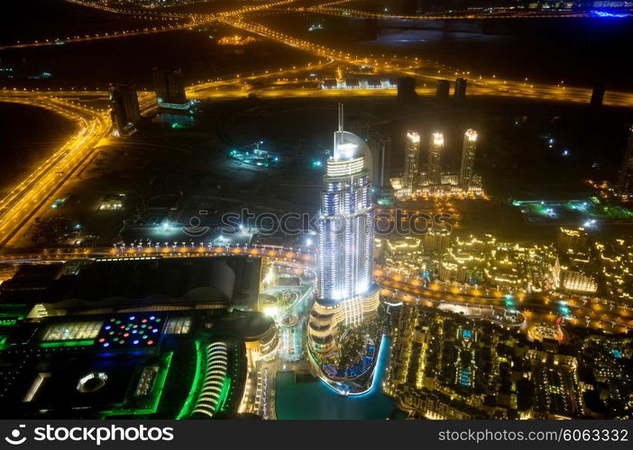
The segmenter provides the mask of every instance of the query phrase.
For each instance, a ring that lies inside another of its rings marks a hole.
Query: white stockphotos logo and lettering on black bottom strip
[[[120,427],[109,425],[104,427],[54,427],[46,425],[31,429],[29,434],[26,425],[20,424],[12,429],[5,442],[12,446],[22,446],[25,442],[81,442],[101,446],[105,442],[169,442],[174,439],[171,427],[146,427],[135,425]]]

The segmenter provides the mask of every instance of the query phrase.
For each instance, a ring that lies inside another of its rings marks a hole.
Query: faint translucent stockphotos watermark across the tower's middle
[[[205,215],[200,211],[200,215]],[[349,220],[349,216],[335,214],[328,216],[330,221],[330,233],[344,233],[347,227],[364,228],[367,224],[367,216],[357,216],[359,221]],[[400,209],[390,211],[378,211],[374,215],[372,223],[375,236],[417,235],[424,236],[431,230],[439,230],[450,233],[453,230],[453,215],[448,212],[408,212]],[[226,212],[222,215],[222,229],[226,235],[238,235],[244,230],[259,233],[261,236],[298,236],[319,229],[320,220],[325,220],[323,216],[309,214],[307,212],[286,212],[275,214],[272,212],[255,213],[248,209],[240,212]],[[202,220],[194,216],[189,220],[189,225],[182,227],[182,231],[192,237],[197,238],[206,234],[209,227],[203,226]]]

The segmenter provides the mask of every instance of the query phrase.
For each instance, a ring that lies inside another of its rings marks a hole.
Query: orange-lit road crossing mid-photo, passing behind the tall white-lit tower
[[[111,248],[59,248],[15,250],[0,256],[0,263],[67,261],[70,259],[147,259],[156,257],[220,257],[250,256],[268,257],[278,264],[314,270],[316,255],[307,248],[274,246],[217,246],[212,243],[174,243],[142,245],[133,244]],[[633,330],[633,311],[608,306],[591,300],[578,300],[563,293],[547,293],[538,296],[519,292],[503,292],[485,287],[455,286],[444,283],[428,284],[421,278],[404,278],[392,274],[389,268],[378,267],[374,272],[382,294],[399,302],[411,302],[428,307],[442,304],[464,306],[471,309],[519,310],[530,323],[553,323],[564,317],[574,325],[612,332],[628,333]]]

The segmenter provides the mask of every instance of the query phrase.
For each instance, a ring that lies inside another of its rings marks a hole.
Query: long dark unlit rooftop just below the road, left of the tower
[[[86,261],[74,275],[64,264],[25,265],[0,286],[0,303],[64,311],[168,304],[254,308],[260,267],[250,257]]]

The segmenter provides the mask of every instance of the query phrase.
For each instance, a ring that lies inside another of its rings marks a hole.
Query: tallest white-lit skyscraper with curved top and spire
[[[359,325],[378,309],[373,283],[372,154],[364,140],[343,130],[343,103],[333,156],[327,160],[318,236],[318,298],[308,335],[317,353],[335,348],[336,327]]]

